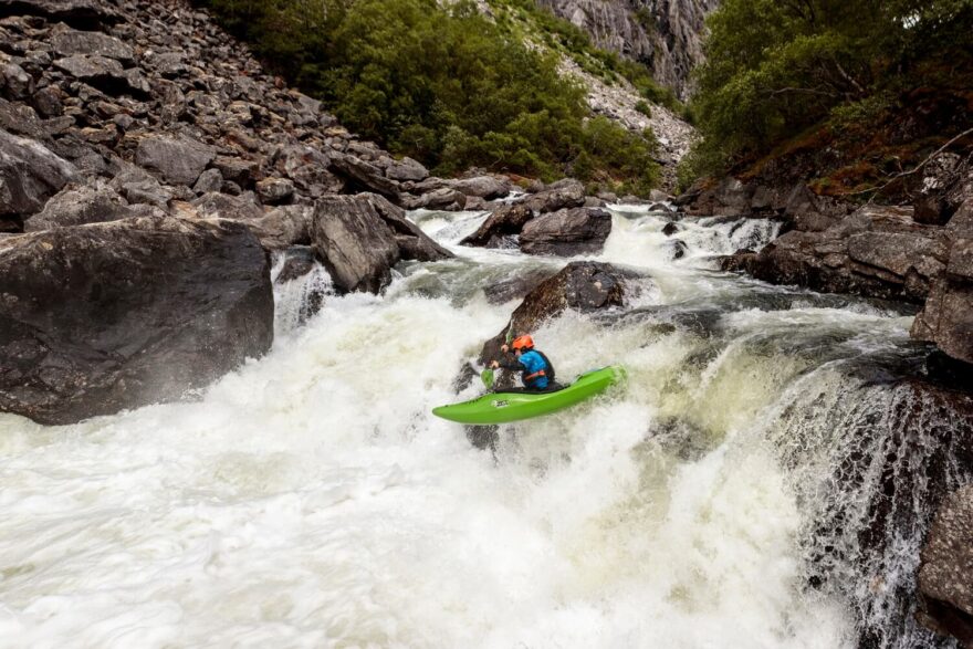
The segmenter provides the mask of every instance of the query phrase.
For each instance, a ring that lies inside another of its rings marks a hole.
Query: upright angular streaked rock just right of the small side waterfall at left
[[[367,198],[329,196],[315,206],[311,241],[342,292],[378,293],[399,259],[395,233]]]

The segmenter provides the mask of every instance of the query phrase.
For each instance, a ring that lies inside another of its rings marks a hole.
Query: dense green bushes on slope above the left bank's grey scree
[[[651,134],[589,119],[557,59],[465,0],[200,0],[348,128],[449,175],[470,166],[613,189],[656,182]]]

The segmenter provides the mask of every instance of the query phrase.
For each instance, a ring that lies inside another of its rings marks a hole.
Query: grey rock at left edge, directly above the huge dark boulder
[[[0,218],[23,218],[71,180],[77,169],[39,142],[0,130]]]

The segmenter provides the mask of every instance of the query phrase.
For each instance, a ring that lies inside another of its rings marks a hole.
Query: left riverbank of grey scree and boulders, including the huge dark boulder
[[[600,247],[610,222],[572,188],[564,214],[557,187],[521,197],[524,223],[552,213],[525,245]],[[182,0],[0,2],[0,407],[70,422],[186,396],[270,348],[270,252],[380,291],[451,257],[405,209],[513,189],[359,140]]]

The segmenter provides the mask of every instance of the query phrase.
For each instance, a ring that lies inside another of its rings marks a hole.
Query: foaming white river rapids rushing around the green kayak
[[[430,409],[477,394],[457,371],[516,305],[482,289],[565,261],[459,247],[483,214],[412,218],[458,259],[383,296],[279,286],[271,353],[197,401],[0,415],[0,646],[855,646],[847,597],[807,586],[815,473],[774,436],[802,381],[908,356],[908,314],[712,270],[774,223],[683,222],[673,260],[665,214],[619,208],[595,259],[645,271],[638,297],[533,334],[558,376],[627,385],[483,451]]]

